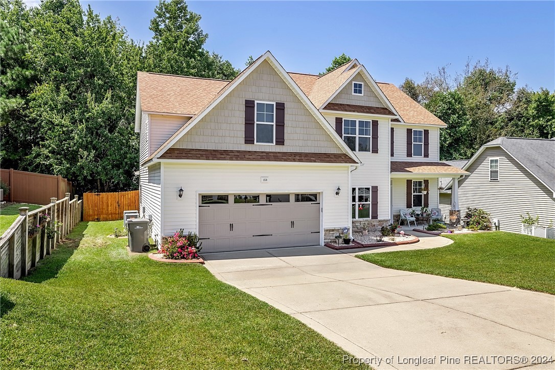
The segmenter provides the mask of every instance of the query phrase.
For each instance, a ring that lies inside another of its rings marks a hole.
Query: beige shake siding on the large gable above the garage
[[[245,144],[245,100],[285,103],[285,145]],[[251,72],[173,148],[342,153],[267,61]]]

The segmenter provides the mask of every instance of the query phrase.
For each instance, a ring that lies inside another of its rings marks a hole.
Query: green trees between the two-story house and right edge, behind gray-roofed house
[[[441,160],[468,159],[499,136],[555,136],[555,93],[516,89],[516,74],[488,60],[468,62],[455,77],[446,66],[421,83],[407,78],[400,89],[447,123],[440,134]]]

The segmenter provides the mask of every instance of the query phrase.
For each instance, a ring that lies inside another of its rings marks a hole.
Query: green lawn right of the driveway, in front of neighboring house
[[[396,270],[555,294],[555,240],[503,231],[447,237],[455,242],[446,247],[357,257]]]

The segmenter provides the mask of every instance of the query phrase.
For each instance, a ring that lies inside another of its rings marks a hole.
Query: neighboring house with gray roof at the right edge
[[[501,137],[482,145],[467,163],[452,161],[470,175],[458,180],[461,215],[482,208],[499,220],[499,229],[521,232],[520,215],[555,222],[555,139]],[[451,179],[448,179],[451,180]],[[452,181],[440,190],[442,212],[449,209]]]

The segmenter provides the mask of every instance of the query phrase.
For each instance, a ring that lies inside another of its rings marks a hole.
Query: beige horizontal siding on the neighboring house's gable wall
[[[499,158],[499,180],[490,181],[490,158]],[[540,224],[555,221],[553,192],[501,148],[487,148],[459,181],[458,199],[464,216],[477,207],[499,219],[501,230],[521,232],[520,215],[538,215]]]

